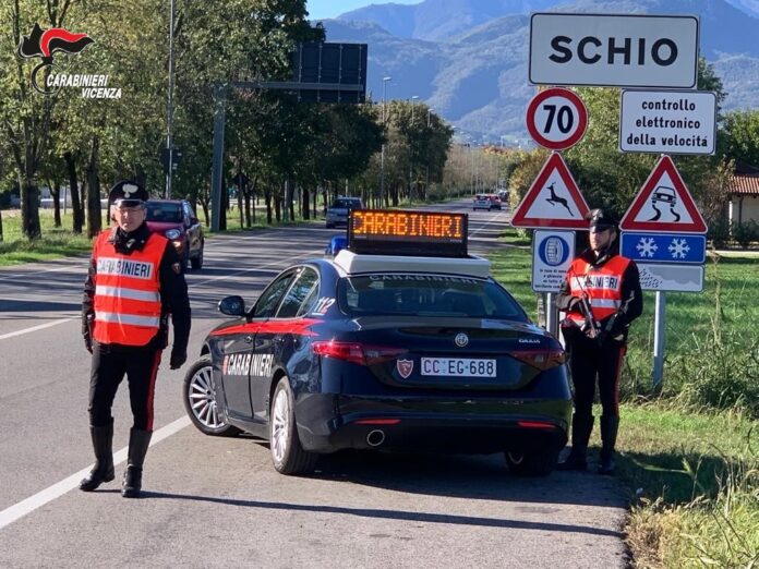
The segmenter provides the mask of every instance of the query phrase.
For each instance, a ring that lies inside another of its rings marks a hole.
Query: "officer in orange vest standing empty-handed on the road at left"
[[[145,223],[147,192],[131,181],[108,195],[115,222],[96,239],[84,284],[82,334],[93,354],[89,377],[89,432],[95,467],[80,483],[92,492],[115,479],[111,407],[126,376],[134,419],[129,436],[125,498],[140,497],[142,469],[153,434],[153,396],[161,352],[173,326],[169,367],[186,361],[190,301],[181,262],[171,242]]]

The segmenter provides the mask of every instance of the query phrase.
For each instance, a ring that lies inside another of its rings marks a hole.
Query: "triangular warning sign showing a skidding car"
[[[707,223],[675,162],[662,156],[619,222],[626,231],[706,233]]]

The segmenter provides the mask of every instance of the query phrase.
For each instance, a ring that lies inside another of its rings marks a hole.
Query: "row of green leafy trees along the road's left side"
[[[72,230],[89,237],[103,227],[100,199],[115,181],[134,179],[164,195],[168,2],[11,0],[0,7],[0,17],[11,24],[0,28],[0,190],[19,192],[24,235],[41,235],[40,186],[50,189],[55,207],[68,187]],[[173,21],[172,137],[182,160],[172,197],[189,198],[207,221],[214,86],[288,81],[297,43],[325,35],[309,23],[304,0],[177,0]],[[38,84],[61,74],[103,75],[120,97],[84,97],[82,87],[38,93],[32,75],[41,55],[19,55],[35,24],[93,40],[76,53],[53,49],[52,64],[36,73]],[[299,104],[280,92],[236,90],[227,106],[222,186],[226,192],[237,185],[248,226],[253,199],[263,201],[269,222],[293,219],[296,203],[308,219],[318,195],[326,203],[348,180],[369,203],[397,205],[405,197],[423,198],[430,184],[442,180],[451,134],[427,106],[413,101]],[[0,218],[0,239],[1,228]]]

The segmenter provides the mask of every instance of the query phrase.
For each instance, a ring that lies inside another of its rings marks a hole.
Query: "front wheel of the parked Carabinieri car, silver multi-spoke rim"
[[[220,415],[214,390],[213,365],[210,359],[201,358],[190,366],[184,375],[184,410],[201,433],[213,437],[231,437],[240,429],[229,425]]]

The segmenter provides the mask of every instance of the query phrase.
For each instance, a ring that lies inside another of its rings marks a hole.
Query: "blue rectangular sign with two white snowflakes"
[[[703,264],[706,235],[688,233],[630,233],[623,231],[622,254],[640,263]]]

